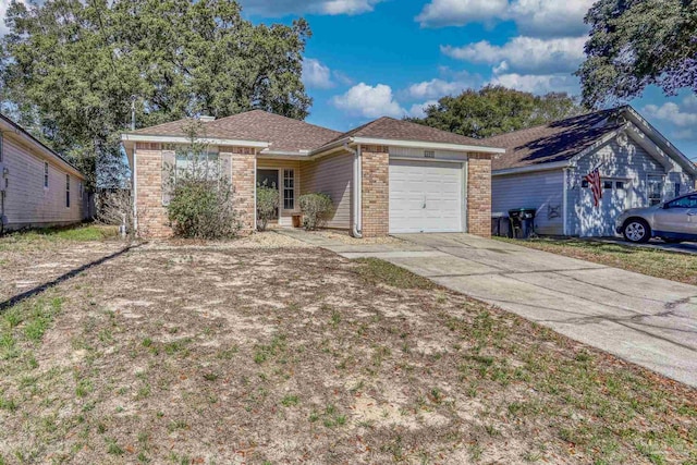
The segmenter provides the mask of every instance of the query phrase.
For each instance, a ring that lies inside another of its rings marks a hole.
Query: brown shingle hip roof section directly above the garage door
[[[478,147],[496,147],[484,144],[472,137],[461,136],[460,134],[450,133],[448,131],[437,130],[424,124],[412,123],[411,121],[395,120],[394,118],[380,118],[353,131],[343,133],[332,142],[341,140],[346,137],[374,137],[391,140],[415,140],[430,142],[441,144],[474,145]]]

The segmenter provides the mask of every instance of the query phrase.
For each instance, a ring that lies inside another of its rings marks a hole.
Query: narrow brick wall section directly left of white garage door
[[[384,146],[366,146],[363,154],[363,236],[380,237],[390,228],[390,155]]]

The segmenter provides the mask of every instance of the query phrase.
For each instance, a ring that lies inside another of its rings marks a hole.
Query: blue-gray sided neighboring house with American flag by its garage
[[[603,110],[484,140],[504,147],[492,160],[492,210],[536,208],[536,232],[612,236],[627,208],[695,188],[697,169],[631,107]],[[598,168],[596,207],[584,180]]]

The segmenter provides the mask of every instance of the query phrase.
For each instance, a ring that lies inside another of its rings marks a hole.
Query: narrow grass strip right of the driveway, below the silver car
[[[650,277],[697,285],[697,255],[577,238],[516,241],[497,237],[497,240]]]

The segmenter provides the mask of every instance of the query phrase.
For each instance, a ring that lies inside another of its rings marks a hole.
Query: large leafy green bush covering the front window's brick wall
[[[178,181],[168,217],[180,237],[231,238],[242,227],[232,205],[232,189],[222,181]]]

